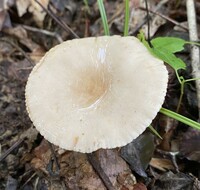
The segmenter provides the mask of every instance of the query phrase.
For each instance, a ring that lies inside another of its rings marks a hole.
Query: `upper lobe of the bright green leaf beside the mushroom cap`
[[[154,48],[164,48],[171,53],[182,51],[186,43],[185,40],[175,37],[158,37],[151,40],[151,44]]]

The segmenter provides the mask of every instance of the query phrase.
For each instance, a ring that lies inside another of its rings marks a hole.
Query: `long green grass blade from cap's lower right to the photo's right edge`
[[[173,119],[176,119],[177,121],[180,121],[186,125],[189,125],[190,127],[193,127],[195,129],[198,129],[200,130],[200,123],[196,122],[196,121],[193,121],[187,117],[184,117],[178,113],[175,113],[173,111],[170,111],[168,109],[165,109],[165,108],[161,108],[160,109],[160,113],[164,114],[164,115],[167,115]]]

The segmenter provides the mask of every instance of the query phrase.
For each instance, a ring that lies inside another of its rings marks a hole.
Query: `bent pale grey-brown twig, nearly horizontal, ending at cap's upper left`
[[[43,30],[43,29],[39,29],[39,28],[35,28],[32,26],[27,26],[27,25],[23,25],[23,24],[17,24],[16,26],[21,26],[22,28],[29,30],[31,32],[38,32],[38,33],[45,34],[47,36],[55,37],[59,43],[63,42],[63,39],[61,38],[61,36],[59,34],[57,34],[56,32],[50,32],[48,30]]]

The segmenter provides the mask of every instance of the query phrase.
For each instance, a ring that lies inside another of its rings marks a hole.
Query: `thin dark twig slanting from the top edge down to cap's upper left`
[[[79,38],[79,36],[62,20],[57,18],[54,13],[48,9],[46,9],[38,0],[35,0],[36,3],[54,20],[59,24],[66,32],[71,32],[75,38]]]

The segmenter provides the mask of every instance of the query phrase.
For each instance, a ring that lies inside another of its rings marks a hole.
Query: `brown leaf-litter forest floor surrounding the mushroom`
[[[24,96],[33,66],[51,47],[75,38],[62,23],[81,38],[104,35],[95,0],[88,0],[88,6],[82,0],[40,2],[48,13],[34,0],[0,2],[0,190],[200,189],[200,132],[162,114],[152,124],[162,140],[147,129],[123,148],[89,155],[62,150],[38,133],[27,115]],[[143,1],[130,0],[129,35],[136,36],[140,29],[146,32],[144,7]],[[123,35],[124,1],[106,0],[105,9],[111,34]],[[189,40],[185,1],[151,0],[150,11],[154,12],[151,37]],[[199,0],[196,11],[200,28]],[[182,76],[191,78],[190,47],[178,56],[187,65]],[[169,66],[168,71],[164,107],[175,111],[180,84]],[[185,86],[179,113],[198,120],[194,82]]]

